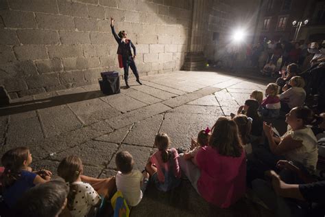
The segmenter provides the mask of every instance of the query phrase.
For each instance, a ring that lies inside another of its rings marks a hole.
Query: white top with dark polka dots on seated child
[[[97,205],[100,200],[98,193],[90,184],[82,181],[75,181],[71,185],[77,186],[77,194],[75,194],[75,200],[73,201],[73,209],[70,211],[71,216],[87,216],[91,207]]]

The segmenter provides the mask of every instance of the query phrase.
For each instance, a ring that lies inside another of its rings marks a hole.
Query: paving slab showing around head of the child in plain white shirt
[[[145,165],[147,164],[147,160],[149,158],[150,153],[152,152],[152,148],[122,144],[118,151],[130,152],[134,159],[133,169],[142,171],[145,168]],[[108,164],[108,168],[116,170],[115,157],[116,155],[114,155],[114,157]]]

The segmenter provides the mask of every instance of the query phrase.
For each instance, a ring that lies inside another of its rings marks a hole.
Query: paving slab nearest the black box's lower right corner
[[[118,111],[121,111],[122,113],[139,109],[147,105],[143,102],[140,102],[139,100],[134,100],[133,98],[130,98],[130,96],[124,95],[122,93],[108,95],[106,97],[101,98],[101,100],[104,100],[105,102],[110,104],[110,106],[112,106]]]

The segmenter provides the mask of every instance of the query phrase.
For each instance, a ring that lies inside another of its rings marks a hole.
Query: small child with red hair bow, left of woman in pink
[[[210,129],[207,127],[205,130],[200,130],[197,135],[197,141],[193,138],[191,139],[191,151],[184,153],[184,159],[189,160],[197,165],[195,156],[201,147],[208,146],[208,138],[209,138]]]

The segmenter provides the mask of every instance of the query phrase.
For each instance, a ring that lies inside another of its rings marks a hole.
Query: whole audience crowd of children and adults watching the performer
[[[200,130],[189,150],[172,148],[172,138],[158,133],[157,151],[142,172],[133,169],[132,155],[121,151],[115,157],[116,176],[85,176],[82,159],[71,155],[58,165],[60,177],[51,179],[48,170],[32,170],[27,147],[8,150],[1,158],[0,215],[100,216],[116,192],[128,207],[134,207],[148,183],[169,192],[186,177],[197,194],[217,207],[250,198],[250,188],[276,216],[324,216],[325,113],[324,107],[306,106],[307,93],[319,91],[309,82],[320,82],[299,70],[307,51],[316,58],[309,60],[305,73],[324,73],[324,54],[317,43],[257,45],[253,65],[277,65],[282,58],[280,67],[285,69],[280,78],[269,83],[264,94],[253,91],[237,114],[219,117],[211,129]],[[260,61],[263,52],[264,62]],[[280,135],[272,126],[276,123],[287,124],[287,132]]]

